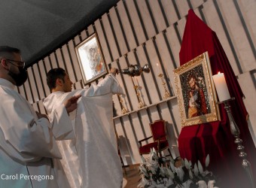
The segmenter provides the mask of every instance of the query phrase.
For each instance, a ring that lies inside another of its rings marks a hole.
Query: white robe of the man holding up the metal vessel
[[[72,92],[53,92],[44,99],[48,113],[69,96],[81,94],[70,114],[75,140],[58,141],[62,166],[72,187],[120,188],[123,173],[114,133],[112,93],[123,93],[112,74],[97,85]]]

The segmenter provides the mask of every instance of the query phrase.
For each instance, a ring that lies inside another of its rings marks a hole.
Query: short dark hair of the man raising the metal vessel
[[[47,85],[50,91],[56,87],[56,80],[59,78],[64,81],[66,71],[63,68],[53,68],[47,73]]]

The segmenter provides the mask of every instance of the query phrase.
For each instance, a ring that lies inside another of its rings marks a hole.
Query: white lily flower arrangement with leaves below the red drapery
[[[142,163],[139,167],[142,180],[137,187],[145,188],[218,188],[214,186],[215,177],[211,171],[203,170],[200,161],[194,164],[187,159],[157,155],[151,149],[150,156],[145,159],[141,156]],[[209,165],[209,155],[206,157],[206,168]]]

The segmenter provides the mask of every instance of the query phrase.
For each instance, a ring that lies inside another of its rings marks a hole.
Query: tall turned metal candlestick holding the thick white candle
[[[245,147],[242,146],[242,139],[239,138],[240,131],[238,126],[236,125],[235,120],[233,119],[232,113],[231,113],[231,108],[230,108],[230,101],[233,101],[235,98],[227,99],[223,102],[217,102],[217,104],[224,104],[224,109],[227,111],[227,117],[228,120],[230,120],[230,131],[231,134],[235,137],[235,143],[237,144],[237,150],[239,151],[239,157],[242,158],[242,167],[245,169],[246,173],[248,174],[248,177],[251,181],[251,187],[254,186],[254,177],[252,175],[252,170],[251,170],[251,163],[248,162],[246,159],[247,154],[245,153],[244,149]]]

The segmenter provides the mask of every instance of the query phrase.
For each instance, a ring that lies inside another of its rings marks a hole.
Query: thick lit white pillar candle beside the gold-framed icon
[[[218,93],[218,100],[223,102],[227,99],[230,99],[230,92],[227,89],[227,83],[224,74],[218,72],[218,74],[213,75],[212,78]]]

